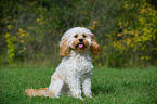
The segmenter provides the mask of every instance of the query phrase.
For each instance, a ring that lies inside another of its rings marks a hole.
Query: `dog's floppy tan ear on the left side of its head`
[[[69,44],[66,39],[62,39],[60,42],[60,55],[67,56],[69,54]]]

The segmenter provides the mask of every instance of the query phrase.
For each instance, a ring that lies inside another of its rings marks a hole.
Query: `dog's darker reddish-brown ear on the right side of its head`
[[[101,52],[100,44],[96,42],[95,36],[93,34],[91,34],[91,40],[92,40],[92,43],[90,47],[91,52],[94,55],[100,54],[100,52]]]

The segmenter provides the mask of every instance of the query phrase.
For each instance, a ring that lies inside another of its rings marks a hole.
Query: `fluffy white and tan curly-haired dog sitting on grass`
[[[87,98],[92,98],[93,65],[90,51],[92,54],[99,54],[100,44],[89,29],[74,27],[67,30],[60,42],[60,55],[64,57],[52,75],[49,88],[27,89],[25,93],[29,96],[50,98],[68,94],[82,99],[81,93],[83,92]]]

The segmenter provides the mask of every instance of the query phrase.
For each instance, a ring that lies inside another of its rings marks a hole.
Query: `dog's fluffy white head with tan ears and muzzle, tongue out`
[[[100,53],[100,44],[95,40],[95,36],[84,27],[74,27],[67,30],[60,42],[60,55],[67,56],[70,50],[76,52],[84,52],[88,49],[93,54]]]

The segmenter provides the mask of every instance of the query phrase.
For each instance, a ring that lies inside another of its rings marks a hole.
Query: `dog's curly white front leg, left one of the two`
[[[75,78],[75,77],[68,77],[68,84],[69,84],[69,90],[71,92],[71,95],[74,98],[79,98],[79,99],[82,99],[81,96],[81,83],[80,83],[80,80],[79,78]]]

